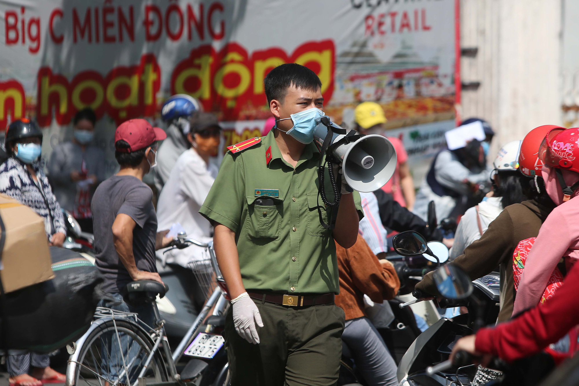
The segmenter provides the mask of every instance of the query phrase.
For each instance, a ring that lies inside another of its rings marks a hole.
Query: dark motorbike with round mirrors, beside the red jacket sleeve
[[[426,240],[417,232],[405,232],[395,241],[397,252],[417,256],[428,249]],[[459,338],[474,333],[479,327],[492,324],[499,315],[499,274],[490,274],[475,281],[452,264],[443,265],[434,274],[438,291],[444,296],[440,308],[466,307],[468,312],[455,318],[441,318],[411,344],[398,366],[400,385],[470,384],[477,372],[472,363],[456,366],[448,362],[452,347]],[[424,294],[415,290],[416,303]],[[443,365],[444,364],[444,365]],[[436,366],[434,366],[436,365]],[[431,367],[427,369],[427,367]]]

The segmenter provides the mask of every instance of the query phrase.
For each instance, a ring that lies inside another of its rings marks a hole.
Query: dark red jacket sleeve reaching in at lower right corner
[[[477,333],[475,347],[512,362],[541,351],[579,324],[579,264],[569,271],[554,296],[510,322]]]

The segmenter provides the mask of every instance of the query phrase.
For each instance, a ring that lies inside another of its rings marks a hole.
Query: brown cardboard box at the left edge
[[[4,292],[54,278],[42,217],[3,194],[0,194],[0,217],[6,230],[0,260]]]

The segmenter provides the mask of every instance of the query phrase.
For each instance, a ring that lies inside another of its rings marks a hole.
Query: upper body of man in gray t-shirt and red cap
[[[166,137],[145,119],[131,119],[115,130],[115,158],[120,170],[94,192],[94,250],[105,277],[104,290],[122,298],[127,283],[162,283],[155,267],[155,250],[171,241],[157,233],[151,188],[143,176],[155,166],[156,141]],[[121,299],[122,300],[122,299]]]

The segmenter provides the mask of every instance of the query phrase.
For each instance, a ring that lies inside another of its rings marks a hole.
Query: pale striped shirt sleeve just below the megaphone
[[[358,234],[368,243],[374,254],[388,252],[386,239],[386,229],[380,221],[380,211],[376,196],[370,193],[360,192],[362,199],[362,209],[364,209],[364,219],[360,220]]]

